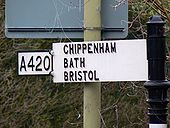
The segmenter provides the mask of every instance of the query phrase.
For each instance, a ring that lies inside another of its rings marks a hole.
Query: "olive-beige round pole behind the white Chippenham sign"
[[[84,0],[84,41],[101,40],[101,0]],[[84,84],[84,128],[100,128],[101,83]]]

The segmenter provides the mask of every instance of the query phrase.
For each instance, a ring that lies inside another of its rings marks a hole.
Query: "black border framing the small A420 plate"
[[[51,73],[53,72],[53,55],[52,55],[52,53],[51,53],[51,51],[52,50],[19,50],[19,51],[17,51],[17,75],[18,76],[50,76],[51,75]],[[18,67],[18,63],[19,63],[19,61],[18,61],[18,54],[19,53],[29,53],[29,52],[48,52],[50,55],[51,55],[51,71],[49,72],[49,74],[30,74],[30,75],[19,75],[19,71],[18,71],[18,69],[19,69],[19,67]]]

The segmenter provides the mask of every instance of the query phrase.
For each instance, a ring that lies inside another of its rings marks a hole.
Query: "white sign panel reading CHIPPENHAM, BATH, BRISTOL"
[[[54,82],[146,81],[146,40],[53,44]]]

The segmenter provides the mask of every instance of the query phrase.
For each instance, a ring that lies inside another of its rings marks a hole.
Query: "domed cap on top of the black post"
[[[165,24],[165,20],[160,15],[155,15],[149,18],[147,24]]]

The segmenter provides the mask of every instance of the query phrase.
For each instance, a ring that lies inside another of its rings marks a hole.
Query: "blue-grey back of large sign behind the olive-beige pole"
[[[103,0],[102,38],[125,38],[128,0]],[[100,11],[100,9],[98,9]],[[6,0],[9,38],[83,38],[84,0]]]

